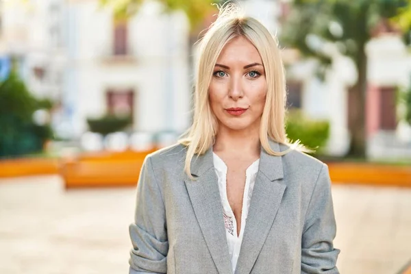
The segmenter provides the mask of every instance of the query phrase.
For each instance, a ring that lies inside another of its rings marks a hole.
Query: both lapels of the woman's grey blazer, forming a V
[[[274,151],[281,152],[277,142],[270,141],[270,146]],[[192,180],[186,176],[184,182],[203,238],[219,273],[232,273],[231,258],[229,258],[225,236],[223,206],[221,205],[218,178],[214,171],[212,147],[203,155],[195,155],[191,162],[190,171],[197,178]],[[282,158],[269,155],[261,147],[260,164],[236,273],[250,273],[256,262],[284,195],[285,184],[276,181],[283,177]]]

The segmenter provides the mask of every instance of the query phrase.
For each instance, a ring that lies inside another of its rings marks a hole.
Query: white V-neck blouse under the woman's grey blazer
[[[256,175],[260,159],[253,162],[253,164],[251,164],[245,171],[245,188],[244,196],[242,197],[241,227],[240,235],[238,236],[236,218],[231,206],[229,206],[227,198],[227,166],[225,165],[225,162],[223,162],[223,160],[216,155],[216,153],[213,153],[213,162],[214,170],[216,171],[217,178],[219,179],[220,197],[221,203],[223,204],[225,235],[227,236],[229,256],[232,260],[232,269],[234,273],[236,270],[238,256],[240,255],[242,235],[244,234],[245,222],[247,221],[251,195],[253,195],[253,188],[256,183]]]

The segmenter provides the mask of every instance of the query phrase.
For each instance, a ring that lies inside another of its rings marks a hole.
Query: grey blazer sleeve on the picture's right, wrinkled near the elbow
[[[339,273],[335,249],[336,220],[331,195],[331,179],[323,164],[308,205],[301,241],[301,273]]]

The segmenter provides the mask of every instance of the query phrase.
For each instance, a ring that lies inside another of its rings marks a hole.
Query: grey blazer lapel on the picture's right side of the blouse
[[[280,152],[277,142],[271,142],[271,148]],[[236,274],[250,273],[257,260],[286,189],[285,184],[275,180],[283,177],[281,157],[269,155],[262,149]]]

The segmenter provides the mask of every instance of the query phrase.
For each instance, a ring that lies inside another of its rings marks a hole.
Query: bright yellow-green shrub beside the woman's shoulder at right
[[[329,122],[309,119],[299,110],[290,110],[286,132],[288,139],[300,140],[303,145],[318,153],[329,138]]]

